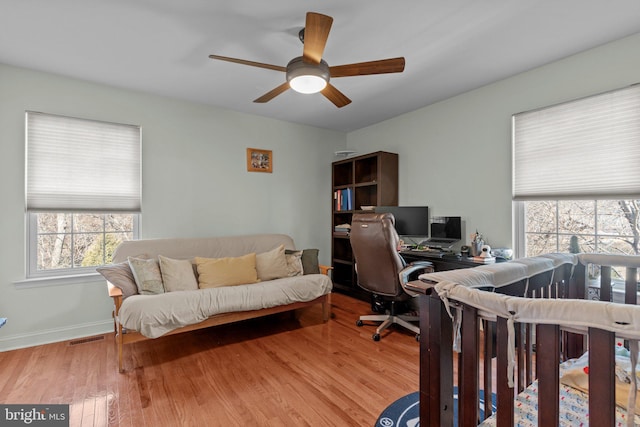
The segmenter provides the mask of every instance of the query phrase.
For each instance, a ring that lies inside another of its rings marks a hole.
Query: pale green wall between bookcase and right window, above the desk
[[[401,205],[512,247],[512,114],[640,82],[638,52],[640,34],[351,132],[347,146],[399,154]]]

